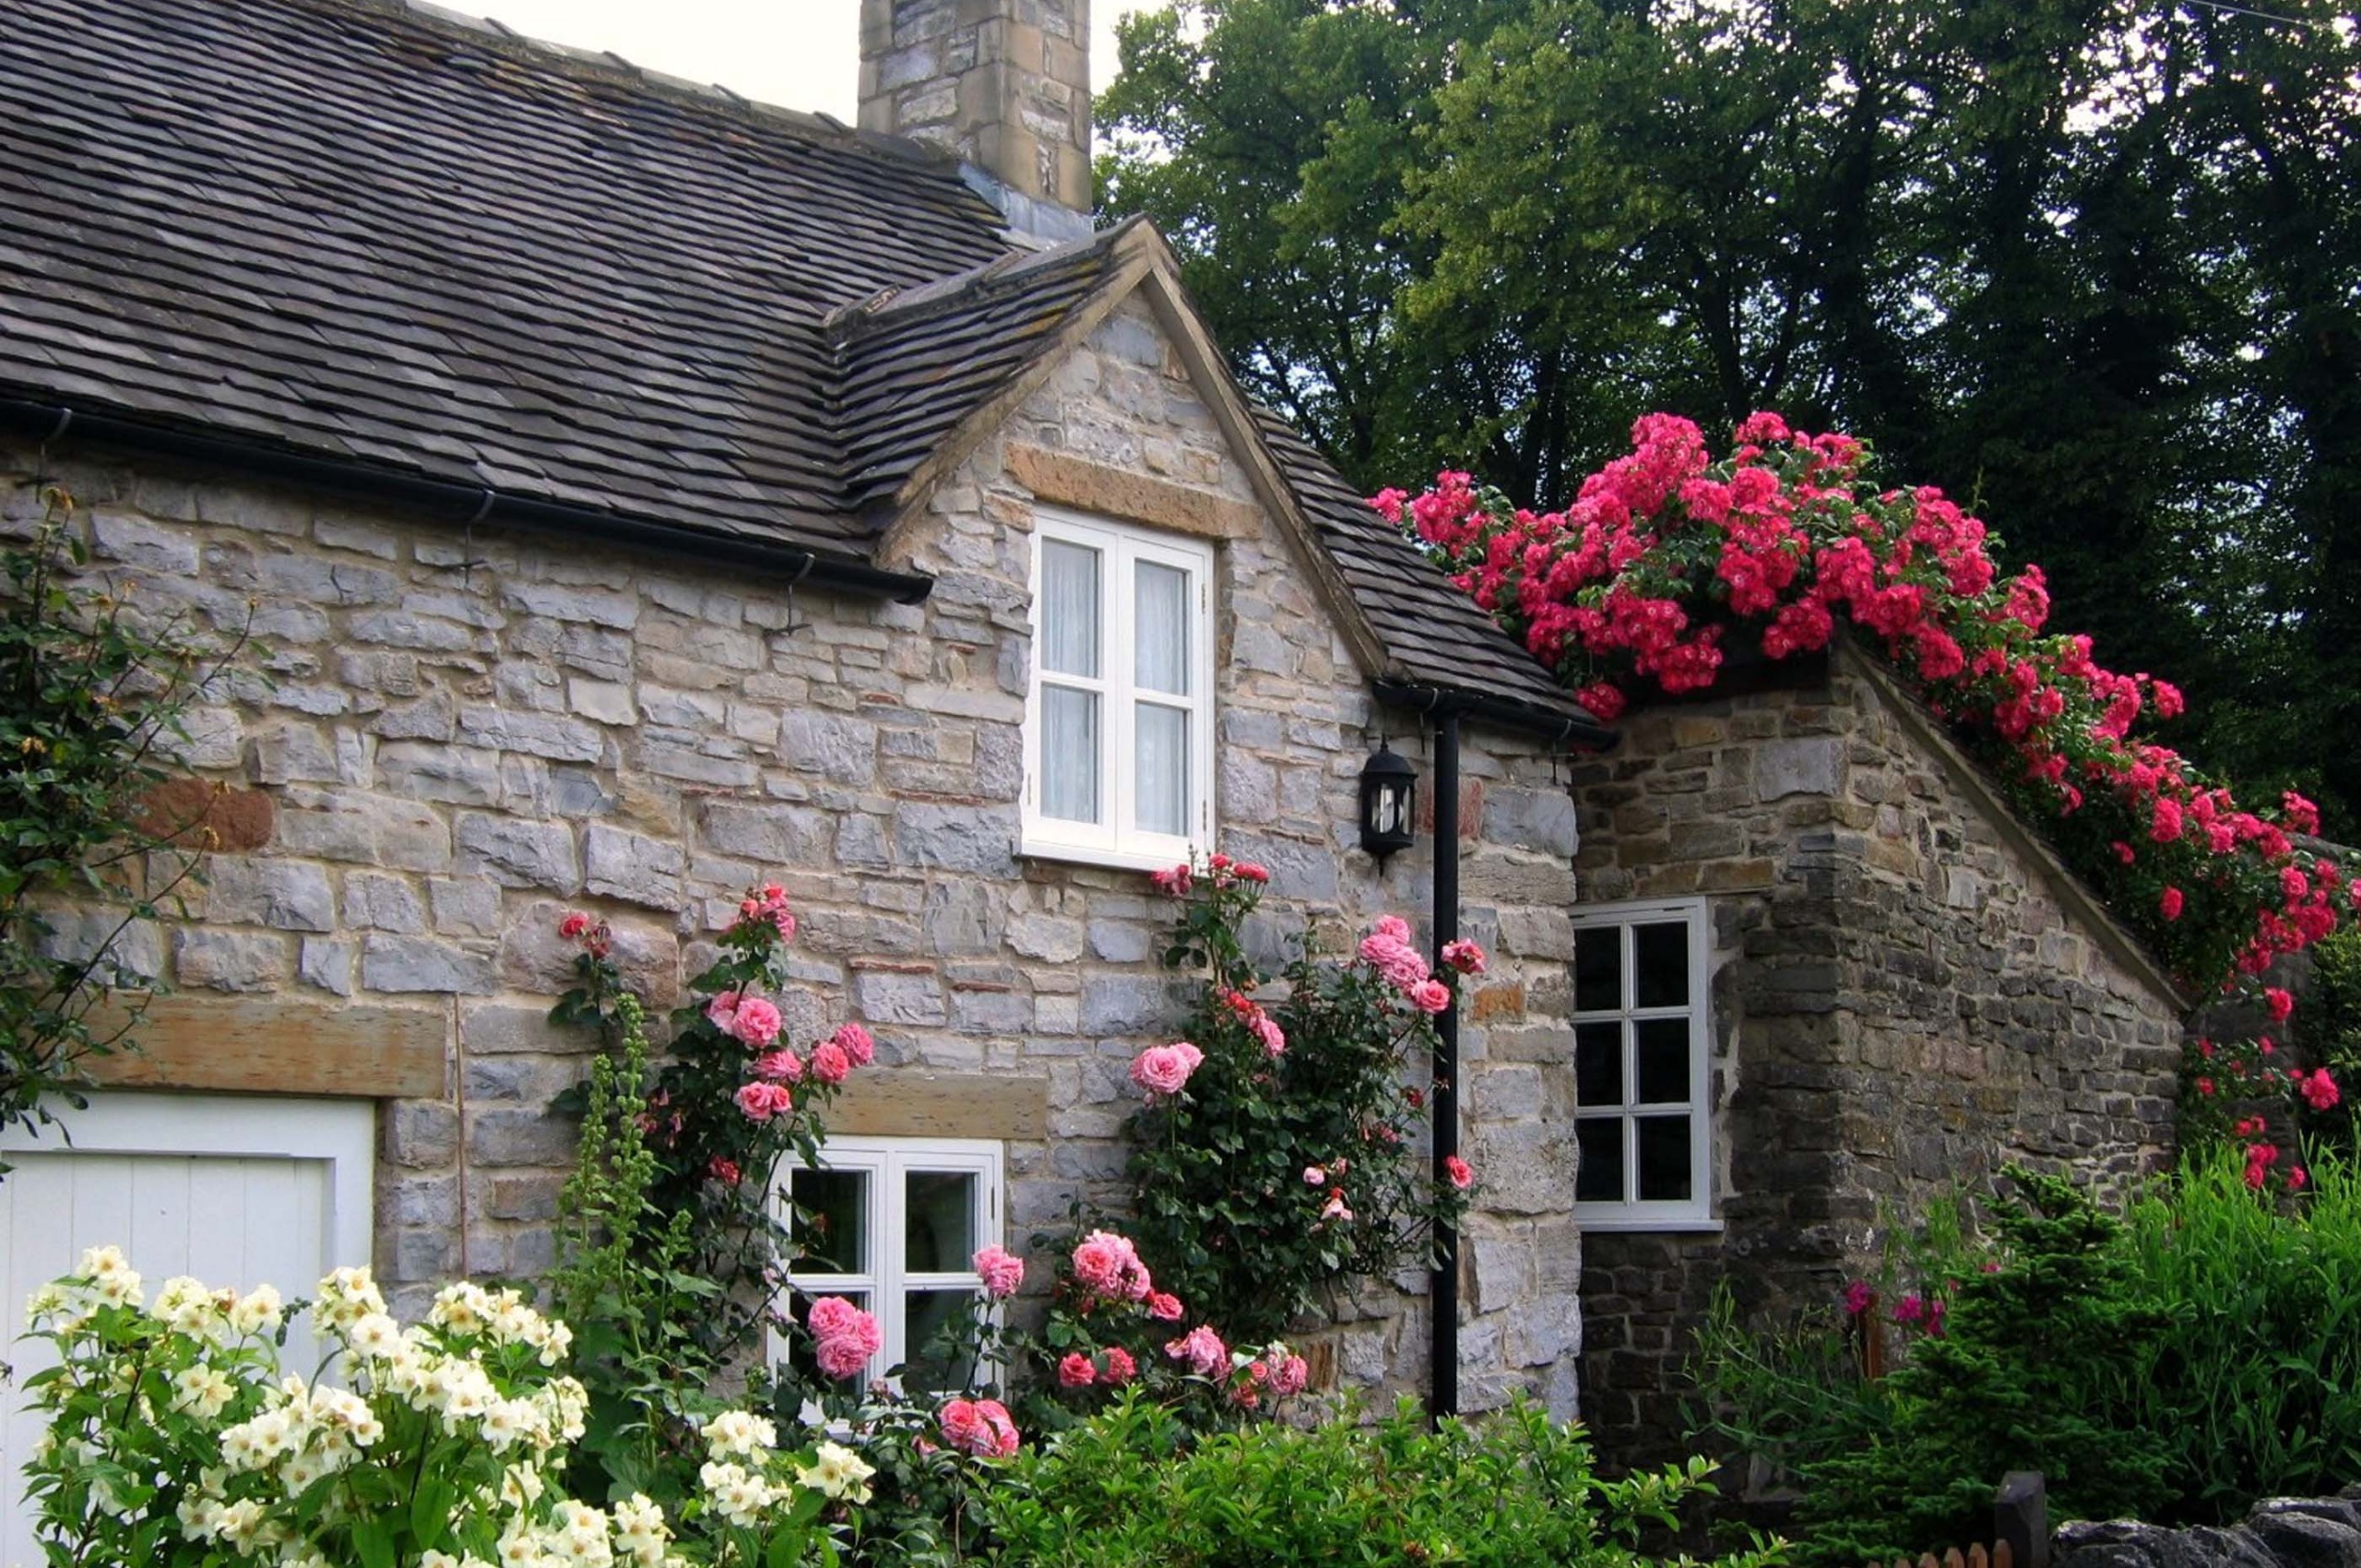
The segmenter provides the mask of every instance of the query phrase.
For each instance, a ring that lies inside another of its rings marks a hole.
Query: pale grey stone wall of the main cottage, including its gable
[[[1140,307],[1110,316],[897,531],[895,564],[937,576],[916,607],[470,536],[229,475],[52,463],[85,503],[99,571],[212,626],[253,616],[269,647],[269,680],[231,682],[187,749],[201,777],[267,801],[269,838],[215,860],[196,919],[135,940],[191,994],[390,1006],[442,1030],[449,1093],[382,1105],[378,1268],[406,1301],[449,1273],[550,1261],[571,1129],[545,1105],[590,1044],[543,1023],[569,985],[560,914],[607,916],[626,966],[673,1001],[739,890],[770,876],[803,919],[793,1034],[859,1018],[878,1037],[866,1131],[892,1131],[897,1072],[999,1100],[1015,1086],[1046,1105],[1046,1138],[1008,1145],[1011,1242],[1058,1228],[1077,1195],[1114,1195],[1129,1058],[1176,1015],[1152,956],[1166,909],[1138,871],[1015,855],[1020,451],[1055,453],[1067,479],[1152,479],[1136,510],[1183,496],[1183,522],[1218,520],[1218,819],[1225,848],[1273,867],[1265,952],[1299,933],[1336,949],[1386,909],[1419,916],[1428,845],[1379,876],[1353,827],[1372,730],[1410,751],[1414,732],[1372,713],[1296,545]],[[31,463],[0,453],[19,531]],[[1570,1407],[1572,805],[1539,749],[1476,730],[1461,822],[1464,923],[1499,954],[1464,1037],[1471,1155],[1492,1167],[1471,1221],[1490,1261],[1469,1389],[1532,1386]],[[1343,1374],[1417,1381],[1414,1294],[1346,1311]]]

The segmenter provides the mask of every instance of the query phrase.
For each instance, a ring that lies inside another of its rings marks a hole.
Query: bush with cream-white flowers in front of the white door
[[[312,1308],[333,1377],[309,1381],[283,1374],[290,1308],[269,1285],[177,1278],[144,1301],[113,1247],[33,1299],[59,1353],[28,1379],[50,1415],[26,1478],[52,1568],[791,1568],[833,1556],[864,1495],[848,1450],[781,1450],[732,1412],[706,1424],[671,1518],[647,1497],[576,1502],[571,1334],[515,1292],[451,1285],[404,1327],[368,1270],[340,1268]]]

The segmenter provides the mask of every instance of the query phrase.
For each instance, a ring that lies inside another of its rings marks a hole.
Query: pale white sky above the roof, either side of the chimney
[[[855,118],[859,0],[439,0],[581,50],[614,50],[635,66],[720,83],[779,109]],[[1162,0],[1093,0],[1091,87],[1114,76],[1114,19]]]

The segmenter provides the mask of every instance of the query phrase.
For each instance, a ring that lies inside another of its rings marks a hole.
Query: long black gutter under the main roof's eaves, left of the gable
[[[663,550],[666,555],[692,557],[706,567],[741,567],[765,576],[784,576],[789,581],[805,581],[812,586],[895,600],[902,605],[916,605],[935,588],[935,579],[930,576],[885,571],[881,567],[871,567],[869,562],[841,555],[819,555],[817,550],[803,550],[798,545],[711,534],[706,529],[692,529],[673,522],[600,512],[586,505],[508,496],[479,484],[420,479],[387,468],[373,468],[368,463],[312,458],[262,442],[170,430],[163,425],[123,420],[57,404],[0,399],[0,430],[17,430],[38,444],[71,437],[102,446],[120,446],[127,451],[175,458],[182,463],[231,468],[307,489],[382,501],[387,505],[423,512],[453,524],[505,524],[571,543],[602,541],[635,550]]]

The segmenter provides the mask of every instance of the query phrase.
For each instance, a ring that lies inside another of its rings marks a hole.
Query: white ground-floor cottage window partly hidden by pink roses
[[[926,1360],[935,1332],[982,1299],[975,1252],[1001,1240],[1001,1145],[973,1138],[829,1138],[824,1169],[786,1176],[786,1219],[803,1254],[789,1315],[817,1296],[876,1313],[883,1348],[866,1379],[904,1367],[902,1389],[966,1389],[975,1367]],[[791,1157],[793,1159],[793,1157]],[[786,1344],[772,1344],[784,1358]],[[916,1358],[916,1360],[914,1360]]]

